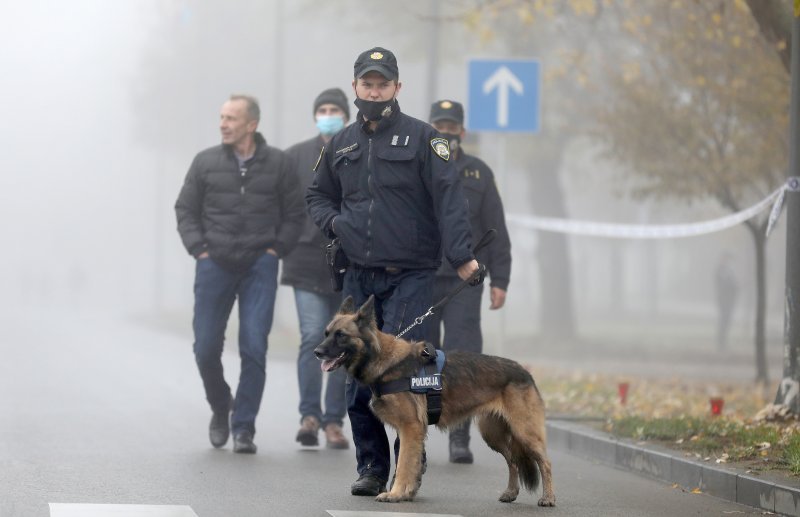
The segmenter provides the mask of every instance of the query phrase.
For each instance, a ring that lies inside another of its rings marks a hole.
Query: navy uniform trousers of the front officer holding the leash
[[[378,328],[396,335],[432,305],[435,273],[435,269],[407,269],[391,274],[383,268],[351,266],[344,277],[343,292],[353,297],[356,307],[375,295]],[[417,325],[403,339],[425,339],[425,326],[425,323]],[[348,379],[347,414],[356,446],[358,474],[375,476],[386,482],[390,471],[389,439],[383,423],[369,408],[371,398],[368,386]]]

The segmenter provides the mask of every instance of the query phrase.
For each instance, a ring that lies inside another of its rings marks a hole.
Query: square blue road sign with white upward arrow
[[[539,131],[539,62],[469,62],[467,127],[471,131]]]

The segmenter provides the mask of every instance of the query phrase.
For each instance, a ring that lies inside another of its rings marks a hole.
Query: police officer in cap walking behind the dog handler
[[[464,187],[469,205],[472,236],[479,239],[487,230],[497,231],[494,240],[478,251],[478,259],[487,267],[491,277],[490,309],[505,304],[508,280],[511,274],[511,242],[508,238],[503,202],[497,192],[494,174],[479,158],[466,154],[461,148],[464,137],[464,108],[452,100],[441,100],[431,105],[430,122],[450,142],[450,160],[455,163],[458,177]],[[442,264],[436,273],[433,299],[441,300],[455,289],[460,280],[453,268]],[[464,289],[454,296],[430,319],[429,338],[436,347],[449,350],[483,350],[481,335],[481,298],[483,285],[478,289]],[[444,326],[444,343],[441,327]],[[450,431],[450,461],[472,463],[469,450],[469,421]]]

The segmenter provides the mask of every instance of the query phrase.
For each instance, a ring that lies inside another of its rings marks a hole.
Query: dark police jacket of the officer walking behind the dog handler
[[[478,262],[489,270],[492,287],[508,290],[511,276],[511,240],[508,238],[503,202],[497,192],[492,169],[480,158],[464,154],[460,149],[456,153],[455,166],[469,205],[473,239],[477,241],[491,228],[497,230],[494,240],[478,250]],[[442,264],[437,274],[457,276],[455,270],[447,264]]]

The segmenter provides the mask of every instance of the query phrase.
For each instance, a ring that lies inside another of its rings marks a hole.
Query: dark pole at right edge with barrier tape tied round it
[[[789,108],[789,171],[786,189],[786,292],[783,379],[775,403],[800,414],[800,0],[794,0]]]

